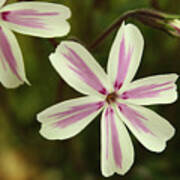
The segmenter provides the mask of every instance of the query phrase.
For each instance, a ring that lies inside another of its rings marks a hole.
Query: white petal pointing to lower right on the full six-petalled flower
[[[119,116],[147,149],[161,152],[166,141],[174,136],[175,129],[164,118],[147,108],[119,104]]]

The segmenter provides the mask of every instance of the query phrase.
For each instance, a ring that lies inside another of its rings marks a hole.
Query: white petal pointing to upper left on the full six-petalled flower
[[[106,95],[111,87],[104,70],[79,43],[62,42],[50,61],[61,77],[83,94]]]

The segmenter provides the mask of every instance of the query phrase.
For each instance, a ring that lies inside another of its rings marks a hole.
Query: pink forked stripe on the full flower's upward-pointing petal
[[[118,70],[117,70],[116,80],[114,82],[115,91],[118,91],[121,88],[125,80],[130,65],[132,53],[133,53],[133,48],[130,46],[128,48],[128,52],[126,52],[125,37],[123,35],[120,43],[119,61],[117,67]]]

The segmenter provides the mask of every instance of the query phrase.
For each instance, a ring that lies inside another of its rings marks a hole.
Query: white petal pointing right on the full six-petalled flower
[[[120,98],[138,105],[172,103],[177,99],[177,78],[177,74],[167,74],[136,80],[120,90]]]

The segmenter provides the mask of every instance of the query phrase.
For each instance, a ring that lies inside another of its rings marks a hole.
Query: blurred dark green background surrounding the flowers
[[[43,0],[45,1],[45,0]],[[9,1],[11,2],[11,1]],[[13,1],[12,1],[13,2]],[[179,0],[48,0],[68,5],[72,10],[72,31],[89,45],[121,13],[135,8],[158,8],[180,13]],[[180,73],[180,39],[129,19],[145,38],[144,56],[136,78],[168,72]],[[36,114],[57,102],[81,96],[64,83],[50,65],[54,47],[47,39],[16,34],[24,55],[27,77],[32,86],[7,90],[0,86],[0,179],[1,180],[103,180],[100,171],[100,117],[82,133],[66,141],[48,141],[38,133]],[[105,67],[115,32],[92,50]],[[178,81],[178,86],[180,81]],[[177,129],[167,149],[155,154],[135,138],[136,158],[125,176],[110,180],[180,179],[180,103],[151,106]]]

